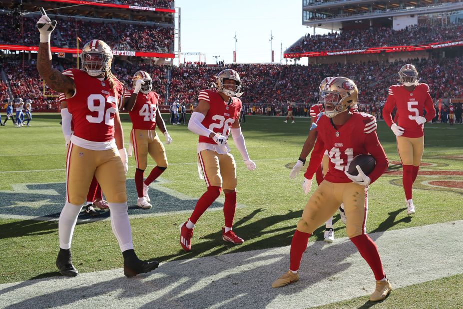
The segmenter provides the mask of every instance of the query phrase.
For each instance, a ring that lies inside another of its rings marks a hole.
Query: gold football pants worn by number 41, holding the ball
[[[366,234],[365,223],[368,213],[368,186],[354,182],[333,183],[323,180],[317,190],[310,196],[297,229],[306,233],[313,233],[326,222],[344,203],[344,211],[349,220],[346,223],[349,238]]]

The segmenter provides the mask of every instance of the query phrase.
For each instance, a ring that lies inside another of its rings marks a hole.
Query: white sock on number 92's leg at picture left
[[[82,210],[82,205],[74,205],[67,201],[61,210],[58,220],[59,247],[61,249],[71,248],[72,234],[80,210]]]

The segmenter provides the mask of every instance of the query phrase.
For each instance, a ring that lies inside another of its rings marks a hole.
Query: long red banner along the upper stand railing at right
[[[452,46],[463,46],[463,41],[445,41],[429,43],[425,45],[399,45],[399,46],[383,46],[370,47],[365,49],[347,49],[347,50],[332,50],[332,51],[306,51],[306,52],[288,52],[284,54],[285,58],[301,58],[301,57],[321,57],[335,56],[347,54],[362,54],[362,53],[380,53],[384,52],[400,52],[400,51],[418,51],[434,48],[444,48]]]

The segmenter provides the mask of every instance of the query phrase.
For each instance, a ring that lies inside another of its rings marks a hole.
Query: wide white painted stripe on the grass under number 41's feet
[[[463,220],[370,234],[393,285],[385,301],[393,303],[396,288],[463,273],[462,233]],[[118,268],[11,282],[0,285],[0,307],[206,308],[226,303],[230,308],[297,309],[370,295],[375,287],[371,269],[348,238],[311,242],[300,281],[272,288],[288,263],[289,246],[284,246],[164,262],[133,279]]]

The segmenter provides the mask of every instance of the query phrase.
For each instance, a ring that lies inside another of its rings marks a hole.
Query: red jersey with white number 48
[[[133,90],[124,92],[124,98],[130,97]],[[156,128],[156,110],[159,104],[159,94],[154,91],[144,94],[139,92],[135,104],[129,111],[132,128],[154,130]]]

